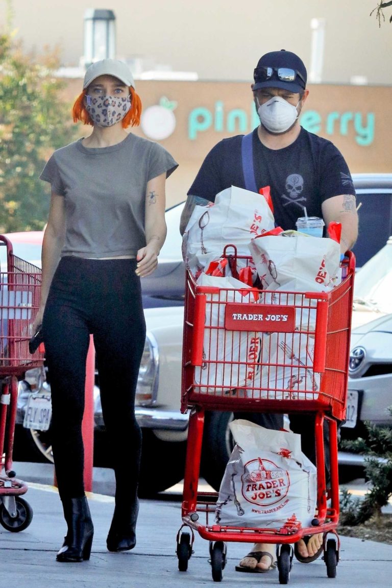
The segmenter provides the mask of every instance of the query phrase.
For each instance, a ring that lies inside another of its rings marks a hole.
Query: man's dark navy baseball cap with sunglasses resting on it
[[[260,57],[253,78],[253,91],[260,88],[281,88],[299,93],[306,88],[307,72],[298,55],[281,49]]]

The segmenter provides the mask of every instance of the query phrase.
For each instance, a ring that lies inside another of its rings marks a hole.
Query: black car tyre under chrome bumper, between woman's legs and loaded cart
[[[186,441],[162,441],[151,430],[143,429],[139,496],[153,496],[183,480],[185,455]]]

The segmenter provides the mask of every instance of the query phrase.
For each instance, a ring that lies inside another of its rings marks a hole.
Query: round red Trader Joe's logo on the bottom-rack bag
[[[252,459],[245,464],[242,476],[242,495],[247,502],[258,506],[271,506],[280,502],[289,492],[289,472],[280,470],[269,459]]]

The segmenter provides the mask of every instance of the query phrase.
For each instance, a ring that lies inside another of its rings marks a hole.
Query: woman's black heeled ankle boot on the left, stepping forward
[[[56,556],[58,562],[82,562],[90,559],[94,527],[86,496],[63,501],[68,532]]]

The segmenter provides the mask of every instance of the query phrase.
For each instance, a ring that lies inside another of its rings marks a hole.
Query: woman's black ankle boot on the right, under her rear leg
[[[136,545],[136,520],[138,520],[139,500],[136,498],[133,508],[121,508],[116,505],[110,525],[106,546],[110,552],[133,549]]]

